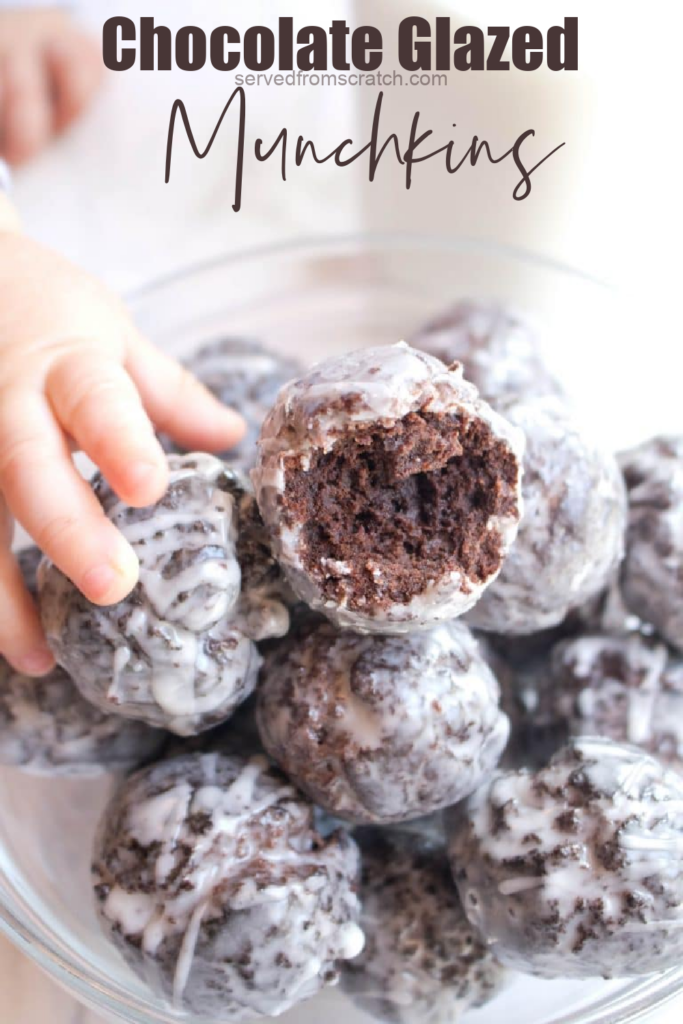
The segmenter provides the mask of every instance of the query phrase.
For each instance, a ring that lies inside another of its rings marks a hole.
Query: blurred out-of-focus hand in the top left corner
[[[0,156],[37,156],[85,109],[102,73],[96,41],[67,11],[0,11]]]

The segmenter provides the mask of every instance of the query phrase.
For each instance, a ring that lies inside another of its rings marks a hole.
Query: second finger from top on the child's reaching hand
[[[119,362],[98,352],[74,352],[51,368],[45,389],[59,425],[126,504],[159,501],[168,485],[166,456]]]

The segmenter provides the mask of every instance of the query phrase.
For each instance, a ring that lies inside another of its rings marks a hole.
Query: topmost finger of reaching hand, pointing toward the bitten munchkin
[[[220,452],[244,435],[241,416],[143,338],[129,344],[126,365],[158,429],[184,449]]]

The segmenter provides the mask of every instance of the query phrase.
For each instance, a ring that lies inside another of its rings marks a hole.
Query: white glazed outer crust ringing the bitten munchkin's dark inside
[[[476,388],[463,379],[461,367],[446,368],[404,342],[351,352],[313,367],[305,377],[283,388],[261,431],[252,477],[278,557],[302,600],[356,632],[403,633],[455,618],[475,603],[495,577],[464,580],[461,572],[447,571],[440,579],[425,580],[422,593],[409,602],[366,612],[326,600],[303,567],[303,524],[285,522],[282,516],[288,461],[297,459],[305,473],[314,452],[327,453],[343,445],[354,430],[369,424],[390,429],[416,411],[478,418],[521,458],[520,431],[478,399]],[[516,537],[520,506],[518,492],[518,514],[492,516],[488,522],[488,529],[500,538],[502,557]],[[337,564],[335,569],[343,575],[345,566]]]

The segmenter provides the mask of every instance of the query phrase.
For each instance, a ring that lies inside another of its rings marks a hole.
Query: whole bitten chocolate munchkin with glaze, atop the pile
[[[400,633],[462,614],[496,578],[522,451],[460,366],[400,343],[286,386],[254,481],[299,596],[342,627]]]

